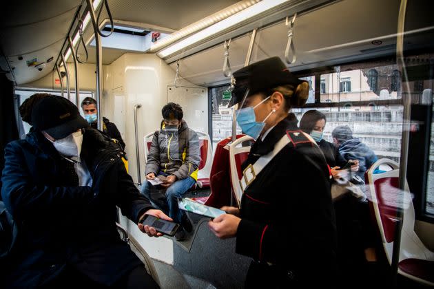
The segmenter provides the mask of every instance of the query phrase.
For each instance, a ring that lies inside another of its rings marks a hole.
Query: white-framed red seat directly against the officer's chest
[[[251,136],[242,136],[238,138],[235,142],[229,144],[229,164],[231,173],[231,187],[234,192],[235,200],[240,206],[242,189],[240,185],[240,179],[242,178],[241,164],[247,160],[249,156],[250,147],[242,147],[242,142],[254,141]]]

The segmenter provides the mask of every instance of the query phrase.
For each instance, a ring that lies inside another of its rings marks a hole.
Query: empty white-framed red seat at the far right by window
[[[385,165],[389,171],[375,171]],[[369,205],[378,230],[382,237],[382,244],[389,264],[392,263],[393,239],[397,222],[397,210],[403,210],[403,224],[401,233],[401,248],[398,274],[420,283],[434,286],[434,253],[428,250],[417,237],[415,226],[415,209],[411,200],[409,186],[401,192],[399,186],[399,165],[393,160],[381,158],[366,171],[365,180]],[[402,195],[404,193],[404,195]],[[398,204],[397,198],[403,200]]]

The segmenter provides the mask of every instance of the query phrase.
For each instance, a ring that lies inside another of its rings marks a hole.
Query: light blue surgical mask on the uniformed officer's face
[[[241,127],[242,132],[247,134],[247,136],[251,136],[252,138],[254,138],[254,140],[258,138],[262,129],[264,129],[265,120],[267,120],[267,118],[269,118],[269,116],[271,116],[271,114],[276,111],[275,109],[273,109],[265,118],[265,120],[262,120],[262,122],[256,121],[254,109],[264,103],[268,98],[270,97],[265,98],[254,107],[245,107],[237,111],[236,122],[238,122],[238,125]]]

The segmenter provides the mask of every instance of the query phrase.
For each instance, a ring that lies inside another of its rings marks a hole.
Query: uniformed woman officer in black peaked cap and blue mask
[[[246,288],[333,287],[329,170],[315,141],[289,113],[306,102],[309,85],[278,57],[244,67],[234,78],[238,125],[256,142],[242,164],[240,208],[224,206],[228,214],[209,228],[222,239],[236,237],[236,253],[254,259]]]

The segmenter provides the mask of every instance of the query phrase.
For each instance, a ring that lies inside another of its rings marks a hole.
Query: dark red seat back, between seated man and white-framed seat
[[[244,135],[236,136],[237,139]],[[220,140],[216,145],[216,152],[211,165],[209,174],[209,187],[211,194],[208,197],[193,198],[196,202],[220,208],[231,204],[231,175],[229,161],[229,142],[231,137]]]

